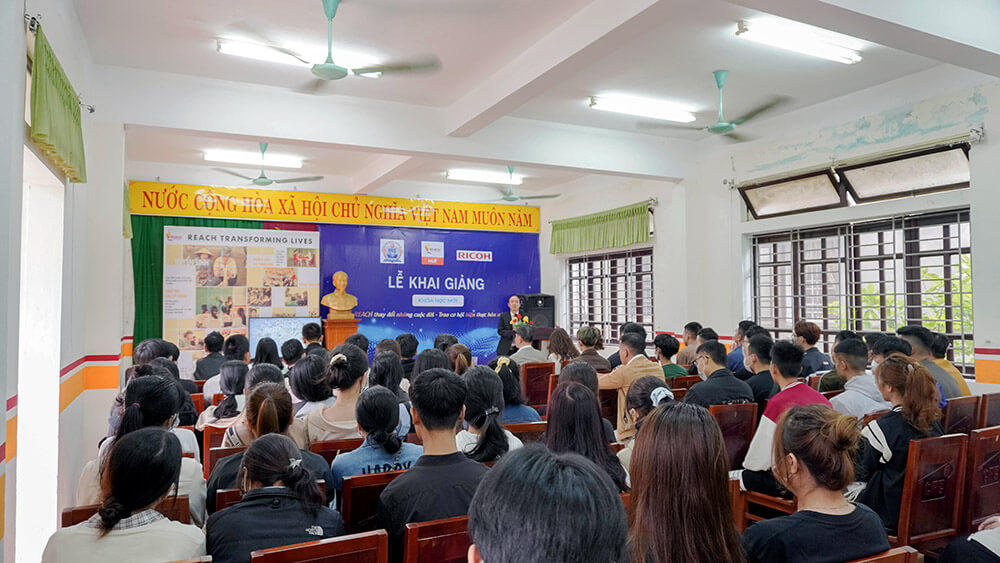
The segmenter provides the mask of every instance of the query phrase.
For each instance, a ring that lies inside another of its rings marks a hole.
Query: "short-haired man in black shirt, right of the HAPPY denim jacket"
[[[407,523],[464,516],[486,474],[485,465],[467,458],[455,445],[465,394],[465,383],[450,370],[433,368],[413,379],[410,414],[424,455],[379,498],[376,528],[389,533],[390,561],[403,560]]]

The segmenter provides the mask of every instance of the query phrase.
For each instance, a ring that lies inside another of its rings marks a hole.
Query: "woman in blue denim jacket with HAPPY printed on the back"
[[[423,447],[403,442],[396,434],[398,405],[395,394],[385,387],[370,387],[361,392],[355,414],[365,441],[355,450],[333,458],[330,465],[338,501],[344,477],[409,469],[423,455]]]

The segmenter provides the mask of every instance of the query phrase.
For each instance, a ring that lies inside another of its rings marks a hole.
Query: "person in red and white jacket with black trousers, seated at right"
[[[779,340],[771,346],[771,378],[781,391],[767,401],[764,416],[757,423],[757,432],[750,441],[750,449],[743,460],[743,471],[740,472],[740,488],[743,490],[783,494],[781,485],[771,472],[771,451],[778,419],[786,410],[798,405],[830,407],[826,397],[799,379],[804,357],[802,348],[788,340]]]

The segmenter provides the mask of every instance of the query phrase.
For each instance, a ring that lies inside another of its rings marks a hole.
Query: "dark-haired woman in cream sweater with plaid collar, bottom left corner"
[[[180,441],[164,428],[120,436],[104,468],[97,514],[53,534],[42,562],[155,563],[205,555],[205,535],[197,526],[167,520],[155,510],[175,494],[181,459]]]

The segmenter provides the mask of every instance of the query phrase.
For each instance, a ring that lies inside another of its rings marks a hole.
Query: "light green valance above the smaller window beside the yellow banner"
[[[552,222],[550,254],[617,248],[649,240],[649,202]]]

